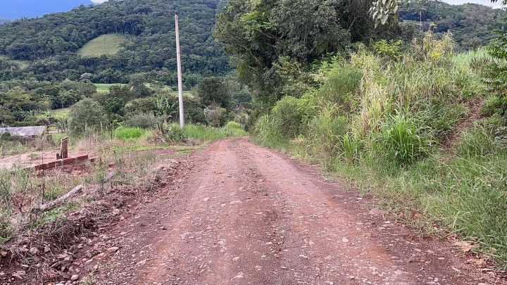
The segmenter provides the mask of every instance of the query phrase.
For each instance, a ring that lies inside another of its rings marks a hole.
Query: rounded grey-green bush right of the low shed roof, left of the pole
[[[81,134],[85,129],[98,130],[106,123],[106,112],[93,99],[82,99],[75,103],[69,113],[71,132]]]

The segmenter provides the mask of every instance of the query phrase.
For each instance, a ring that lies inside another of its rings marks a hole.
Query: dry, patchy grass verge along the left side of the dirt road
[[[0,171],[0,248],[2,243],[14,239],[46,224],[63,224],[66,215],[79,210],[89,201],[100,199],[113,185],[144,189],[149,183],[154,167],[164,159],[177,158],[204,148],[209,142],[225,137],[242,137],[246,134],[241,125],[230,122],[225,127],[187,125],[169,127],[168,132],[178,132],[170,140],[161,140],[156,130],[119,127],[113,132],[85,132],[80,136],[55,134],[55,142],[61,137],[70,138],[70,153],[87,153],[96,158],[92,167],[82,170],[49,170],[34,173],[23,169]],[[177,138],[177,139],[175,139]],[[111,166],[113,165],[113,166]],[[111,182],[104,177],[115,172]],[[35,206],[56,198],[82,184],[91,189],[86,201],[68,201],[57,208],[33,215]],[[93,189],[96,189],[94,191]],[[92,199],[92,200],[90,200]]]

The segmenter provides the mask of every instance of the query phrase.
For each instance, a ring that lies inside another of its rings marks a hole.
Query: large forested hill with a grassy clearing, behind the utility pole
[[[6,68],[8,75],[0,69],[0,78],[79,80],[87,73],[93,82],[125,83],[144,73],[175,85],[175,11],[187,87],[229,72],[229,57],[212,37],[218,0],[124,0],[1,25],[0,54],[30,65]]]

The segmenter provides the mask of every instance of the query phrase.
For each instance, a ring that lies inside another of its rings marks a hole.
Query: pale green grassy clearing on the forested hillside
[[[127,42],[129,38],[123,34],[102,34],[84,44],[77,54],[84,58],[114,56]]]

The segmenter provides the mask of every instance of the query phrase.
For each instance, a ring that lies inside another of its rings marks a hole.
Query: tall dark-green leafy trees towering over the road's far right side
[[[396,23],[374,30],[370,4],[368,0],[229,1],[218,16],[215,37],[232,56],[239,79],[255,94],[254,112],[266,113],[283,96],[299,97],[306,91],[301,87],[311,81],[306,76],[309,65],[344,51],[351,42],[403,37]]]

